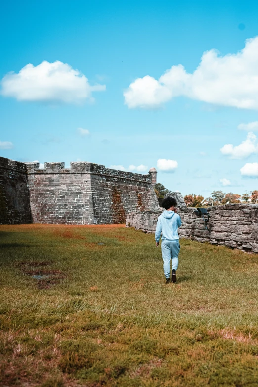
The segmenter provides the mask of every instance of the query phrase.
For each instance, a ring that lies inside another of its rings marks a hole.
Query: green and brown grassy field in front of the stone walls
[[[258,256],[154,236],[0,226],[0,386],[258,386]]]

